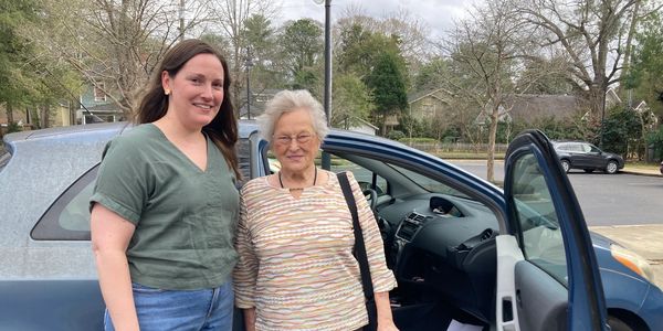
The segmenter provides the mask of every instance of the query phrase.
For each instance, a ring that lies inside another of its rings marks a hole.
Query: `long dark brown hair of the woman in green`
[[[240,179],[241,174],[235,152],[239,130],[234,107],[230,98],[230,71],[223,55],[210,44],[201,40],[189,39],[168,50],[147,86],[134,121],[137,124],[152,122],[166,115],[166,111],[168,111],[168,96],[161,85],[161,73],[166,71],[170,77],[175,77],[182,66],[198,54],[215,55],[223,66],[223,102],[217,116],[202,128],[202,131],[221,150],[235,177]]]

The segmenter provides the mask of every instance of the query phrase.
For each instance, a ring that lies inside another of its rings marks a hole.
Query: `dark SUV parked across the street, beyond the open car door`
[[[555,141],[552,145],[566,172],[582,169],[585,172],[601,170],[612,174],[624,168],[624,159],[621,156],[604,152],[586,141]]]

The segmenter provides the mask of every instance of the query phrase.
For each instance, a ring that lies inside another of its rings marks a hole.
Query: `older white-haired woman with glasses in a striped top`
[[[320,104],[283,90],[259,118],[281,171],[241,192],[235,303],[248,330],[356,330],[368,323],[352,217],[336,175],[314,160],[326,136]],[[378,309],[378,330],[397,330],[389,306],[396,279],[372,212],[351,173]]]

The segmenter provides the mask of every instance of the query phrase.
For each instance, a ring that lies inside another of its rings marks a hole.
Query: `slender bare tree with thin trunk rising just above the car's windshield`
[[[495,140],[504,97],[516,92],[513,77],[524,57],[527,38],[512,1],[488,0],[456,23],[444,50],[455,77],[448,81],[456,97],[481,105],[487,113],[487,180],[494,180]]]

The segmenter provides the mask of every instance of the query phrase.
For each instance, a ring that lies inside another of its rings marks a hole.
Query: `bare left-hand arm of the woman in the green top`
[[[139,330],[127,247],[135,225],[99,203],[92,209],[92,250],[97,266],[99,286],[115,330]]]

